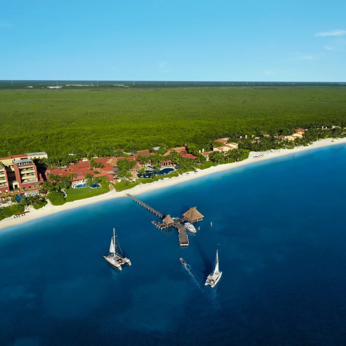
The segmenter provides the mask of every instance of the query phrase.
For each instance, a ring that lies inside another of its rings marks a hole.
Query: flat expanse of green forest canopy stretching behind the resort
[[[345,87],[0,89],[0,157],[346,126]]]

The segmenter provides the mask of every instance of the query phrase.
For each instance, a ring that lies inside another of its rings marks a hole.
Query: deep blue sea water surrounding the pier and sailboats
[[[197,206],[187,249],[129,198],[1,231],[0,345],[345,345],[345,173],[341,144],[140,195]],[[113,226],[122,271],[102,258]]]

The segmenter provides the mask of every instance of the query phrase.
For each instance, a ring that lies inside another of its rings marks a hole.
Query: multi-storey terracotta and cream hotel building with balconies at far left
[[[28,154],[0,158],[0,193],[38,194],[42,177]],[[29,193],[28,190],[33,190]]]

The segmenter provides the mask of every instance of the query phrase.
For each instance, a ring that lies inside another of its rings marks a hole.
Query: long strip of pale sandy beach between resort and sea
[[[222,172],[222,171],[228,171],[233,168],[249,165],[255,162],[259,161],[264,161],[268,159],[273,159],[276,157],[280,156],[285,156],[289,154],[294,154],[298,152],[302,152],[305,150],[310,150],[310,149],[316,149],[316,148],[321,148],[324,146],[330,146],[330,145],[336,145],[336,144],[341,144],[341,143],[346,143],[346,138],[338,138],[338,139],[333,139],[333,138],[326,138],[326,139],[321,139],[317,142],[314,142],[313,144],[307,146],[307,147],[301,147],[301,148],[294,148],[294,149],[280,149],[278,151],[270,151],[268,153],[265,153],[263,157],[260,157],[258,159],[255,159],[254,156],[257,156],[257,152],[250,152],[249,158],[246,160],[243,160],[241,162],[236,162],[236,163],[231,163],[231,164],[223,164],[220,166],[213,166],[205,170],[200,170],[198,173],[190,173],[189,175],[186,175],[186,173],[183,173],[183,175],[179,175],[178,178],[172,178],[172,180],[165,179],[163,182],[157,182],[155,184],[149,185],[149,184],[142,184],[142,185],[137,185],[133,187],[132,189],[125,190],[122,192],[116,192],[116,191],[110,191],[107,192],[103,195],[100,196],[95,196],[95,197],[90,197],[86,198],[83,200],[78,200],[74,202],[67,202],[62,206],[53,206],[50,204],[50,202],[47,200],[48,204],[43,207],[42,209],[36,210],[34,208],[29,208],[28,210],[30,213],[26,214],[26,216],[21,216],[17,218],[12,218],[8,217],[0,221],[0,230],[12,227],[12,226],[17,226],[44,216],[49,216],[52,214],[60,213],[66,210],[71,210],[75,208],[80,208],[84,207],[90,204],[98,203],[98,202],[103,202],[107,200],[111,200],[114,198],[121,198],[121,197],[126,197],[127,193],[130,193],[133,196],[140,195],[142,193],[146,193],[149,191],[154,191],[163,187],[169,187],[173,186],[176,184],[180,184],[182,182],[190,181],[193,179],[197,179],[202,176],[206,176],[209,174],[217,173],[217,172]]]

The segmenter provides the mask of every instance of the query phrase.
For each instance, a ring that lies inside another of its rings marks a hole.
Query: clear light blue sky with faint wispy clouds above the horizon
[[[0,80],[346,81],[346,1],[4,1]]]

